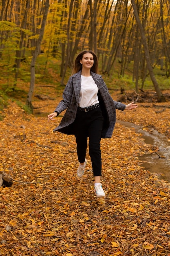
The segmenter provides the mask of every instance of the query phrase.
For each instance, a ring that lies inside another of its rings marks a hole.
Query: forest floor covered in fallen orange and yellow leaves
[[[170,256],[170,184],[138,158],[158,149],[116,124],[112,138],[101,141],[106,198],[97,199],[88,151],[78,178],[74,136],[53,133],[62,117],[47,120],[61,95],[49,88],[47,94],[53,99],[33,101],[44,116],[27,115],[11,101],[0,121],[0,172],[13,180],[0,187],[0,255]],[[117,119],[170,140],[169,99],[138,106],[117,111]]]

